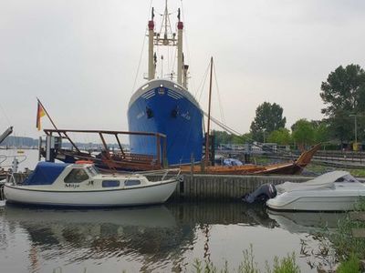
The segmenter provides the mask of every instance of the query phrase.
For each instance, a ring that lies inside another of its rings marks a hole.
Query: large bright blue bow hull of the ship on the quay
[[[151,80],[130,98],[129,130],[162,133],[167,137],[169,165],[202,159],[203,111],[183,86],[170,80]],[[130,152],[156,156],[156,139],[130,136]]]

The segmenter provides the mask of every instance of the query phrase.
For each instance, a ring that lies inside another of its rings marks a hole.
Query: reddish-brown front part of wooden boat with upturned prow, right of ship
[[[244,165],[244,166],[193,166],[193,173],[217,174],[217,175],[297,175],[303,171],[314,154],[318,151],[320,144],[312,147],[310,150],[303,152],[295,161],[283,162],[271,165]],[[182,171],[192,172],[191,166],[183,166]]]

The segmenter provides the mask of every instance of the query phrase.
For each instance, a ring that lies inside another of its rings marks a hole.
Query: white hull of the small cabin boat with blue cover
[[[123,207],[161,204],[176,188],[177,180],[155,185],[102,190],[42,190],[5,185],[6,203],[56,207]]]

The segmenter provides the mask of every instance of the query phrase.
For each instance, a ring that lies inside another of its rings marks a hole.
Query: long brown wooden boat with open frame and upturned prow
[[[73,149],[62,147],[55,148],[53,154],[55,159],[65,163],[75,163],[78,160],[89,160],[102,171],[146,171],[163,169],[166,158],[166,136],[159,133],[146,132],[121,132],[121,131],[95,131],[95,130],[64,130],[64,129],[45,129],[47,136],[53,136],[57,133],[62,139],[67,139]],[[69,133],[91,133],[98,134],[102,144],[103,151],[98,155],[92,155],[90,152],[82,151],[68,136]],[[119,135],[138,134],[140,136],[151,136],[156,138],[156,152],[154,156],[132,154],[123,151],[120,145]],[[111,152],[105,142],[104,135],[115,136],[118,141],[120,151]],[[258,175],[258,174],[282,174],[297,175],[306,167],[314,154],[318,151],[320,144],[312,147],[310,150],[303,152],[295,161],[277,163],[271,165],[245,165],[245,166],[207,166],[195,165],[194,173],[217,174],[217,175]],[[40,147],[40,154],[47,157],[47,149]],[[182,172],[192,172],[189,165],[181,166]]]

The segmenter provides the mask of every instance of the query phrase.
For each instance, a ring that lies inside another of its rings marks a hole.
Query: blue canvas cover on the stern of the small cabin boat
[[[51,185],[67,166],[65,163],[39,162],[23,185]]]

